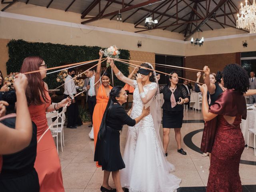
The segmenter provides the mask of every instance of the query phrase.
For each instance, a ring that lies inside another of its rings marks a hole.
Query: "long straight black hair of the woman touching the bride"
[[[104,112],[101,124],[100,124],[100,131],[98,133],[98,139],[101,140],[105,137],[106,134],[106,120],[108,119],[108,114],[111,112],[112,106],[114,103],[117,103],[116,97],[119,96],[122,90],[122,86],[114,86],[109,94],[108,105]]]

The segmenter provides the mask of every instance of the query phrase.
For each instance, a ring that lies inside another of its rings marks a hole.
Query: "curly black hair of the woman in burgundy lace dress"
[[[226,65],[222,71],[224,87],[245,93],[249,88],[247,71],[238,64]]]

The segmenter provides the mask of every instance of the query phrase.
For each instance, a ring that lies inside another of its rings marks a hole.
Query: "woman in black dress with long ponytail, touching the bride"
[[[94,161],[102,166],[104,170],[104,180],[100,188],[102,192],[123,192],[120,183],[119,170],[125,168],[124,161],[120,152],[120,133],[123,125],[134,126],[142,118],[150,113],[150,109],[143,108],[138,118],[130,118],[130,111],[126,114],[122,104],[127,102],[128,95],[121,86],[115,86],[110,92],[108,105],[104,112],[98,139],[95,148]],[[108,185],[108,178],[112,172],[112,177],[116,186],[116,190]]]

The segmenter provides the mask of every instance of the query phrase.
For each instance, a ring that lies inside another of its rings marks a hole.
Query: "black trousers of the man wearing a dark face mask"
[[[69,95],[64,95],[64,98],[69,97]],[[76,101],[76,98],[75,98]],[[67,127],[70,126],[75,126],[77,124],[78,120],[78,104],[77,101],[75,103],[72,103],[70,106],[67,108],[68,112],[68,124]]]

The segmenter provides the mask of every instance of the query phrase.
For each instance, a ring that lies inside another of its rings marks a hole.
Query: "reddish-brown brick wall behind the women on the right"
[[[227,54],[213,54],[213,55],[198,55],[198,56],[186,56],[184,67],[203,70],[207,65],[211,72],[216,73],[218,70],[222,70],[227,64],[238,63],[240,61],[239,53],[227,53]],[[240,63],[239,63],[240,64]],[[196,81],[196,72],[185,71],[185,77],[190,80]],[[202,76],[200,82],[203,82]],[[194,84],[194,83],[192,83]]]

